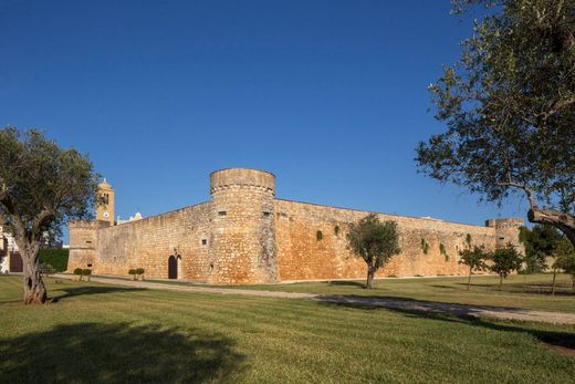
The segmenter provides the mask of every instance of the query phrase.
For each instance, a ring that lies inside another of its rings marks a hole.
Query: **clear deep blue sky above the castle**
[[[209,199],[208,174],[278,196],[482,225],[524,216],[416,172],[442,126],[427,86],[470,17],[426,1],[0,0],[0,125],[88,153],[116,215]]]

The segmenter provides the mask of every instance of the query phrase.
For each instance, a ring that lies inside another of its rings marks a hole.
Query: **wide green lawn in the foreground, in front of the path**
[[[20,283],[0,278],[2,383],[567,383],[575,376],[575,357],[543,343],[575,345],[575,326],[53,279],[58,302],[23,307]]]

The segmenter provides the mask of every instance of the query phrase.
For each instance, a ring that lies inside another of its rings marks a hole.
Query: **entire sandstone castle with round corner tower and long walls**
[[[213,284],[352,279],[366,264],[347,249],[346,228],[369,212],[275,197],[269,172],[229,168],[210,175],[211,199],[123,224],[114,221],[114,189],[98,186],[96,220],[70,222],[67,270],[127,276],[144,268],[148,279],[186,279]],[[401,253],[376,276],[458,276],[459,250],[487,250],[519,241],[522,219],[491,219],[484,227],[377,214],[395,220]]]

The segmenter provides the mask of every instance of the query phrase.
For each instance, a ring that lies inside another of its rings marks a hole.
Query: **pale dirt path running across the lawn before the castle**
[[[54,277],[61,279],[73,279],[69,274],[55,274]],[[109,279],[102,277],[92,277],[92,281],[115,284],[133,288],[159,289],[178,292],[198,292],[198,293],[219,293],[219,294],[240,294],[263,298],[283,298],[283,299],[307,299],[321,302],[327,302],[339,305],[354,307],[377,307],[387,308],[399,311],[418,311],[418,312],[433,312],[442,314],[452,314],[459,316],[489,316],[502,320],[523,320],[537,321],[552,324],[575,324],[575,313],[565,312],[546,312],[546,311],[531,311],[518,308],[506,307],[488,307],[488,305],[467,305],[442,303],[436,301],[419,301],[419,300],[402,300],[402,299],[387,299],[387,298],[365,298],[365,297],[349,297],[349,295],[332,295],[332,294],[315,294],[315,293],[299,293],[299,292],[278,292],[278,291],[260,291],[249,289],[230,289],[216,287],[194,287],[179,286],[163,282],[149,281],[132,281],[121,279]]]

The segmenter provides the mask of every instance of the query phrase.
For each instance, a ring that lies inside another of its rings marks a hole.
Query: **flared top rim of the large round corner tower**
[[[275,176],[272,173],[250,168],[226,168],[210,174],[210,193],[232,187],[254,187],[275,195]]]

